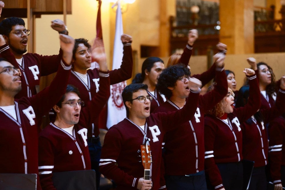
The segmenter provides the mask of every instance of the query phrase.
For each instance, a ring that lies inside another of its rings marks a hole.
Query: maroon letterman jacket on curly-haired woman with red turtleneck
[[[260,107],[260,91],[256,75],[247,78],[250,85],[249,101],[245,107],[234,108],[233,113],[227,114],[228,123],[212,115],[205,117],[205,172],[215,189],[223,188],[216,163],[243,160],[240,125]]]

